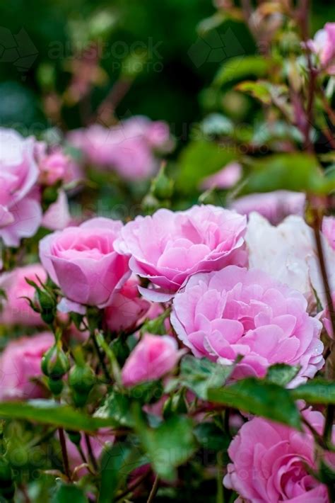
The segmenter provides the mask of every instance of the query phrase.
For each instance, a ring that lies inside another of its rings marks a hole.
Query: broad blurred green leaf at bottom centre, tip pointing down
[[[164,480],[175,480],[177,466],[185,463],[196,450],[191,419],[175,416],[158,428],[150,428],[140,413],[136,416],[136,431],[155,473]]]

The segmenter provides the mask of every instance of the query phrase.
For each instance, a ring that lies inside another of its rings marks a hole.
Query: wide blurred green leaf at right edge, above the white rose
[[[279,189],[324,194],[335,189],[335,180],[324,176],[317,159],[304,152],[275,154],[254,160],[241,192],[270,192]]]

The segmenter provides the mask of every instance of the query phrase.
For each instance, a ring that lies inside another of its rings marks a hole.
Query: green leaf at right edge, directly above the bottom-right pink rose
[[[306,400],[316,404],[335,404],[335,383],[324,379],[313,379],[290,390],[294,400]]]

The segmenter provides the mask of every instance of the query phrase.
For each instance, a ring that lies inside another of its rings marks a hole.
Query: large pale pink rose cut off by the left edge
[[[42,220],[39,200],[32,195],[38,168],[33,138],[0,128],[0,238],[8,247],[37,232]]]

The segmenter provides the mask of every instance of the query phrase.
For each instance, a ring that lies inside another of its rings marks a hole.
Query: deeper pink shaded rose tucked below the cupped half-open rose
[[[105,309],[105,324],[111,332],[135,328],[148,312],[150,303],[140,297],[138,286],[139,279],[133,276],[113,295],[112,304]]]

